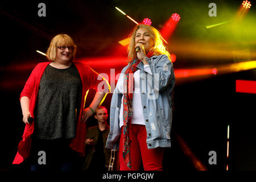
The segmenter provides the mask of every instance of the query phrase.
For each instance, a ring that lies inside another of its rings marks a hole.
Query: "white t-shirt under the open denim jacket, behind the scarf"
[[[144,71],[150,73],[152,75],[150,65],[144,65]],[[133,91],[133,115],[131,116],[131,123],[137,125],[145,125],[145,120],[142,111],[142,103],[141,103],[141,89],[139,88],[140,79],[139,79],[140,70],[134,72],[134,91]],[[119,93],[123,93],[123,75],[121,74],[117,81],[117,89]],[[123,126],[123,97],[122,103],[119,113],[119,126],[120,128]]]

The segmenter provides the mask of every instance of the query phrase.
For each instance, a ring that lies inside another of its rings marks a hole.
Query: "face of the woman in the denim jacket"
[[[141,43],[144,46],[145,52],[148,53],[154,46],[154,40],[146,28],[139,28],[135,34],[135,44]]]

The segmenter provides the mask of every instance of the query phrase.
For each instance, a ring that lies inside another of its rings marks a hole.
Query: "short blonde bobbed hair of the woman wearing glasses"
[[[76,55],[76,45],[73,42],[71,36],[67,34],[58,34],[56,35],[49,45],[49,48],[47,50],[47,58],[49,61],[54,61],[56,57],[57,52],[57,46],[73,46],[74,49],[72,51],[71,61],[75,59]]]

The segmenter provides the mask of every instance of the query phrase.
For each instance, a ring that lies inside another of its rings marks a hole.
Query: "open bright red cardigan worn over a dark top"
[[[22,93],[20,93],[20,98],[22,98],[23,96],[27,96],[28,98],[30,98],[30,114],[31,114],[31,117],[33,118],[34,118],[34,109],[36,104],[36,98],[38,96],[40,80],[43,76],[44,70],[46,69],[47,65],[50,63],[51,62],[44,62],[36,65],[36,67],[33,69],[30,77],[28,78],[25,84],[22,90]],[[81,101],[79,119],[76,126],[76,137],[72,139],[72,142],[69,145],[69,147],[79,152],[80,155],[84,156],[86,126],[85,126],[85,123],[80,122],[80,119],[81,119],[81,112],[84,109],[86,91],[88,89],[95,89],[97,92],[98,91],[100,92],[101,90],[98,90],[98,85],[99,85],[99,88],[102,88],[102,86],[104,85],[104,92],[109,93],[110,86],[108,81],[106,81],[105,78],[98,75],[98,73],[95,72],[92,68],[82,63],[73,62],[73,64],[75,64],[77,70],[79,71],[81,81],[82,81],[82,101]],[[13,164],[20,164],[23,162],[24,159],[30,156],[30,149],[31,149],[31,142],[32,142],[31,135],[33,132],[34,132],[34,122],[25,126],[24,133],[22,135],[22,140],[19,142],[18,152],[15,156]]]

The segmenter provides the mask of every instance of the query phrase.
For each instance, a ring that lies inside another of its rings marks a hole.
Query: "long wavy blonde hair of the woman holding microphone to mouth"
[[[160,35],[160,32],[152,26],[148,26],[146,24],[138,24],[137,26],[134,27],[133,33],[131,33],[131,40],[127,49],[129,62],[134,60],[137,57],[137,53],[135,52],[134,47],[135,47],[135,35],[137,30],[139,30],[139,28],[145,28],[150,34],[151,38],[154,40],[154,45],[150,49],[150,51],[154,51],[153,55],[166,55],[169,58],[169,60],[171,60],[170,53],[166,50],[166,47],[163,44],[163,40],[162,40],[163,38]]]

